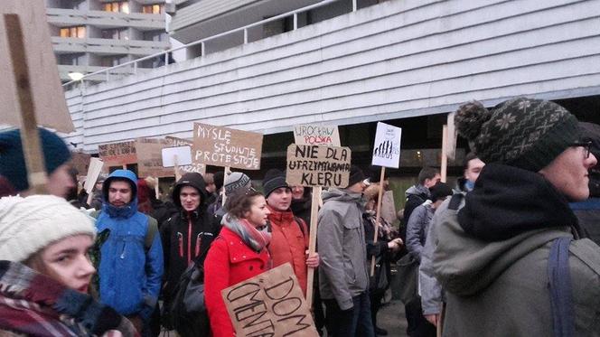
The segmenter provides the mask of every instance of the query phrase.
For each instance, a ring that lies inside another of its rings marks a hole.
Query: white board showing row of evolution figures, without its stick
[[[373,159],[371,164],[384,167],[398,168],[400,165],[400,137],[402,129],[377,123]]]

